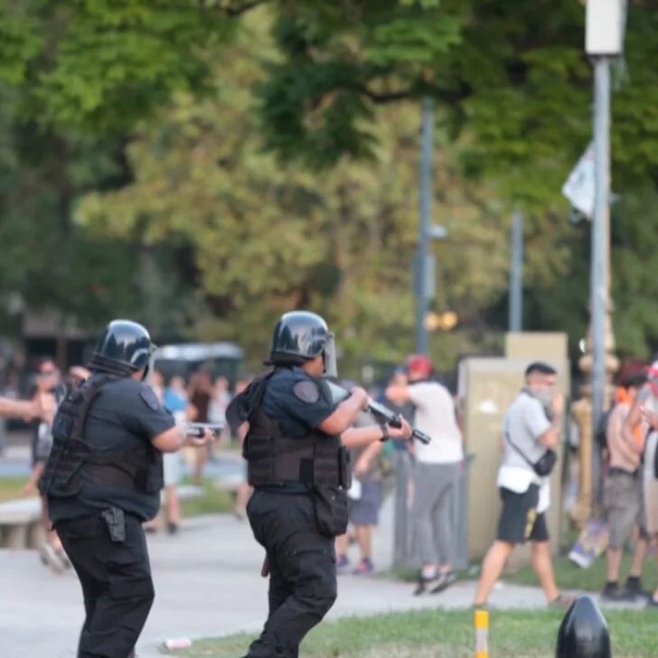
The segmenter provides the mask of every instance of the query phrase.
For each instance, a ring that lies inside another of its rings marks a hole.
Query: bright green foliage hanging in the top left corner
[[[200,91],[207,49],[228,38],[216,6],[189,0],[16,0],[0,12],[0,80],[42,125],[129,131],[174,90]]]

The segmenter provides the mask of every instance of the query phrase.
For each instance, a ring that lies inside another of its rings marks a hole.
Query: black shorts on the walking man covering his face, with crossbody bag
[[[526,541],[548,541],[549,528],[544,512],[537,513],[540,487],[531,484],[527,491],[517,494],[510,489],[499,489],[503,511],[498,521],[496,539],[507,544],[524,544]]]

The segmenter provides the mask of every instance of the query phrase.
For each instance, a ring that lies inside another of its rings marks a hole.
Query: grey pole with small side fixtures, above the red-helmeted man
[[[428,330],[425,321],[429,304],[436,295],[436,258],[429,253],[432,240],[443,240],[447,230],[432,224],[432,133],[434,119],[432,99],[423,99],[420,147],[420,208],[418,213],[418,251],[416,255],[416,353],[428,353]]]

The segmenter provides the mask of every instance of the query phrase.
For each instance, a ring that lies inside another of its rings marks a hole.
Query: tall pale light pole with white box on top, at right
[[[610,322],[610,68],[624,49],[625,0],[587,0],[585,50],[594,67],[595,201],[591,234],[592,435],[606,403],[606,324]],[[592,450],[592,494],[600,456]]]

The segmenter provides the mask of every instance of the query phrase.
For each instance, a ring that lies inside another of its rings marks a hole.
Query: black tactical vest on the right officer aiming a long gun
[[[242,446],[251,486],[301,482],[311,488],[351,486],[349,453],[340,437],[315,430],[304,438],[285,437],[261,402],[271,373],[258,382],[249,410],[249,432]]]

